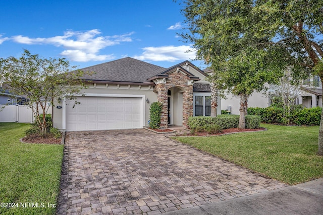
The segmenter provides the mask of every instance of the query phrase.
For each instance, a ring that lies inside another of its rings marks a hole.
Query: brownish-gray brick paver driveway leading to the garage
[[[59,214],[157,214],[286,186],[145,129],[68,132]]]

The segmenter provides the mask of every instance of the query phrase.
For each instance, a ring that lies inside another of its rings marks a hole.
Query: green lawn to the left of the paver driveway
[[[21,143],[29,126],[0,123],[0,214],[56,213],[63,145]]]

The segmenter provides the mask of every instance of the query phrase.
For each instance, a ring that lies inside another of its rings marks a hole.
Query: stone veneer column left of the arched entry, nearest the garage
[[[160,116],[160,128],[168,128],[168,90],[165,84],[156,84],[158,102],[163,104]]]

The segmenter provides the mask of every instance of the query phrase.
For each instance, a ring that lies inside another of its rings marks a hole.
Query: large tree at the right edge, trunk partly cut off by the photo
[[[318,75],[323,83],[323,1],[256,1],[252,14],[260,17],[254,26],[257,37],[271,37],[292,59],[292,75]],[[281,59],[284,60],[284,59]],[[318,135],[318,154],[323,156],[323,112]]]

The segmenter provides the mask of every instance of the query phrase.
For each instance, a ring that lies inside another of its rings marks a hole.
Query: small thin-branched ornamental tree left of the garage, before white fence
[[[0,58],[0,84],[11,93],[27,97],[40,134],[46,136],[45,115],[54,98],[81,94],[84,72],[74,70],[65,58],[42,58],[25,50],[20,58]],[[72,96],[70,99],[76,99]],[[49,102],[49,105],[48,105]],[[76,102],[77,103],[77,102]]]

